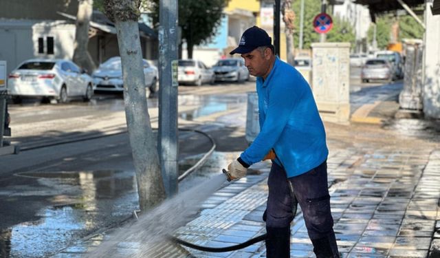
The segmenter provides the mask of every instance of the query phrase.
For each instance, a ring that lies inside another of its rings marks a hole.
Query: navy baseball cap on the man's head
[[[263,46],[272,47],[272,38],[267,35],[265,30],[254,26],[243,32],[239,47],[232,50],[229,54],[246,54],[252,52],[257,47]]]

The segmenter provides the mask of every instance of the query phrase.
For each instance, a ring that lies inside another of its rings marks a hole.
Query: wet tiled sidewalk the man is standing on
[[[378,114],[376,105],[367,112]],[[383,114],[383,112],[382,112]],[[416,121],[417,122],[417,121]],[[342,257],[440,257],[440,145],[425,127],[399,128],[352,121],[326,123],[334,230]],[[208,197],[175,236],[201,246],[231,246],[265,233],[262,220],[269,162]],[[203,170],[203,168],[202,168]],[[219,166],[221,171],[221,166]],[[54,257],[84,257],[113,229],[86,237]],[[314,257],[300,212],[292,223],[291,257]],[[119,243],[115,257],[142,253]],[[142,257],[142,256],[137,256]],[[263,242],[234,252],[201,252],[164,243],[148,257],[265,257]]]

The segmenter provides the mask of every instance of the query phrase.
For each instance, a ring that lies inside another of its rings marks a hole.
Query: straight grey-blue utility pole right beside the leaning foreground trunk
[[[159,158],[168,197],[177,194],[177,0],[159,1]]]

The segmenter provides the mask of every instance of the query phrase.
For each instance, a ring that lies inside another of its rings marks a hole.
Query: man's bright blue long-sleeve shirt
[[[276,58],[265,80],[256,79],[260,133],[241,153],[248,165],[274,149],[287,177],[300,175],[327,159],[325,129],[309,84],[291,65]]]

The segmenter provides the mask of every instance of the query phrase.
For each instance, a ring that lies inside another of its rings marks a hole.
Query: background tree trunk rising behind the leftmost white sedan
[[[89,45],[89,23],[93,11],[93,0],[78,0],[78,14],[76,15],[76,32],[74,42],[73,61],[87,72],[96,69],[87,47]]]

